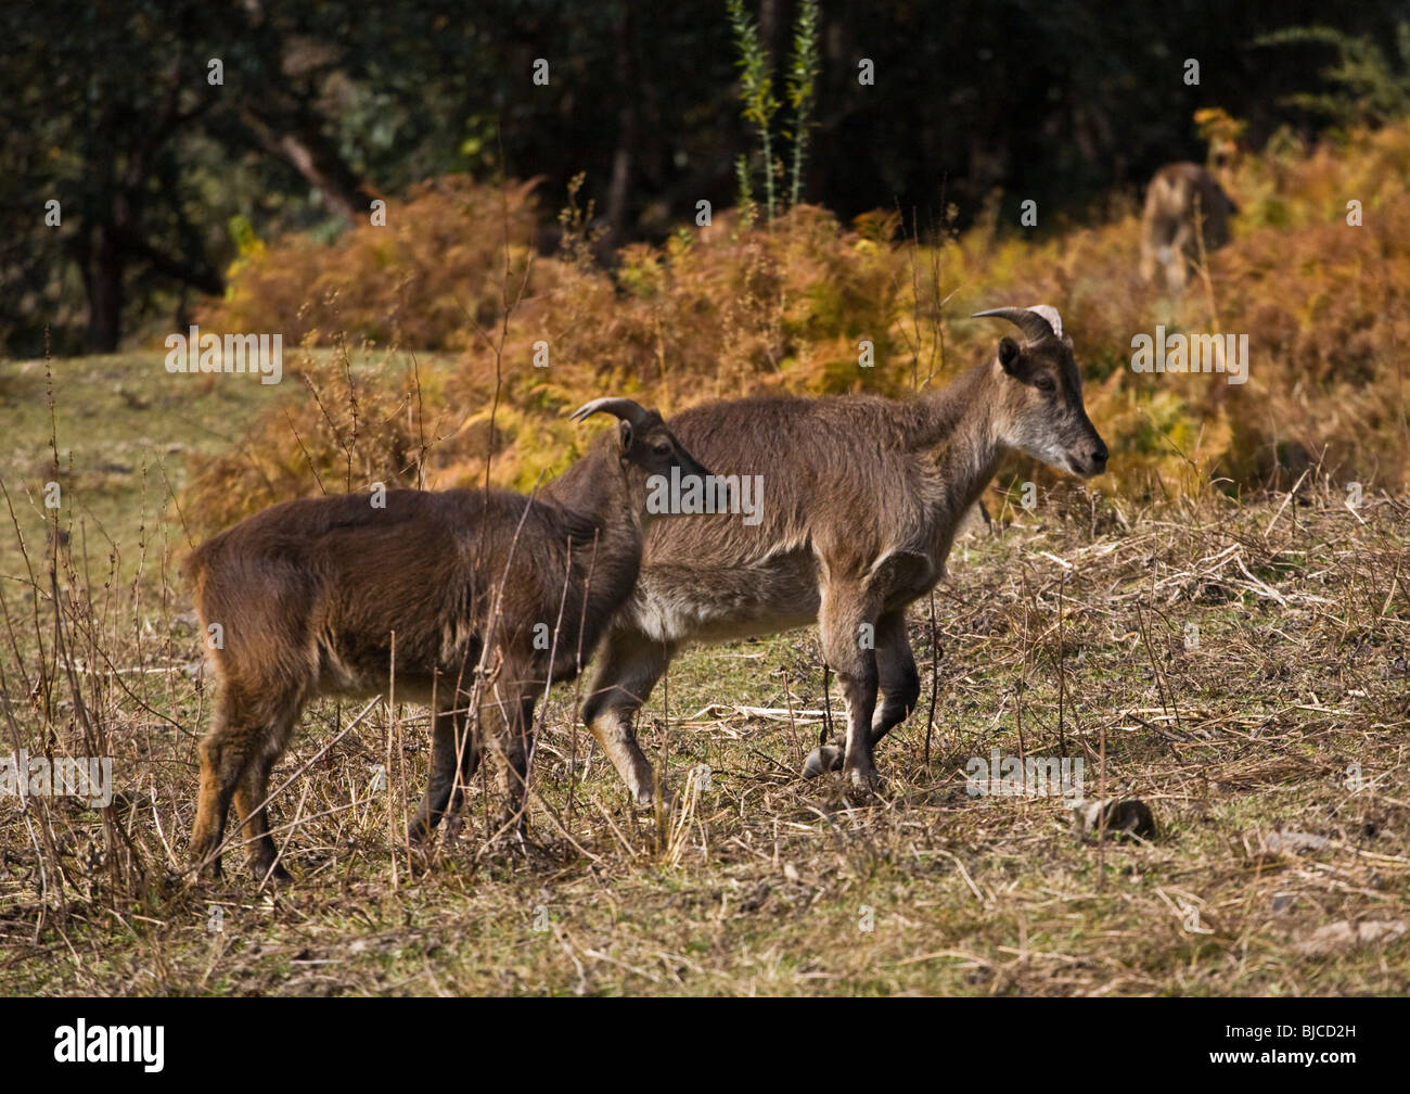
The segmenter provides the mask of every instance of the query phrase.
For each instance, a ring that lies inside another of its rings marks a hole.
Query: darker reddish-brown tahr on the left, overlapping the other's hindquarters
[[[264,809],[269,771],[313,696],[388,692],[393,635],[396,697],[434,707],[413,836],[460,805],[485,745],[501,761],[503,829],[522,830],[534,702],[581,671],[630,594],[647,477],[705,474],[654,411],[598,399],[574,416],[598,411],[619,428],[533,498],[392,490],[385,508],[371,494],[286,501],[196,549],[202,627],[219,624],[221,641],[193,864],[219,874],[234,803],[257,877],[286,877]]]

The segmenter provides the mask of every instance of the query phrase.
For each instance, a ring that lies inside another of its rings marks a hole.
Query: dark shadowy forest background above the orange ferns
[[[749,7],[781,62],[795,6]],[[1270,32],[1332,25],[1394,55],[1404,18],[1392,3],[830,0],[802,193],[843,220],[901,209],[922,227],[987,200],[1017,223],[1032,198],[1052,230],[1162,162],[1203,160],[1200,107],[1246,121],[1251,147],[1324,124],[1293,96],[1327,88],[1334,51]],[[42,353],[45,327],[55,353],[169,329],[224,289],[241,233],[331,239],[431,176],[540,178],[554,209],[581,172],[622,244],[661,239],[701,199],[732,205],[737,157],[757,155],[725,0],[6,4],[0,113],[10,356]]]

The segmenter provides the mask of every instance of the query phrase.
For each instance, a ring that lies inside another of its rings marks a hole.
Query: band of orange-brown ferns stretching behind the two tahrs
[[[1141,282],[1131,208],[1039,240],[1001,233],[990,213],[926,246],[895,243],[890,213],[852,229],[809,206],[771,227],[718,213],[625,248],[608,271],[582,247],[533,257],[530,186],[427,184],[385,229],[251,248],[209,322],[283,325],[285,344],[347,337],[458,356],[423,360],[417,398],[406,354],[358,351],[351,370],[347,354],[306,354],[319,399],[272,409],[206,467],[195,508],[220,524],[347,483],[475,486],[486,460],[495,486],[532,490],[581,455],[564,411],[603,391],[667,411],[776,390],[900,395],[993,351],[991,325],[970,312],[1036,302],[1059,306],[1081,347],[1087,408],[1112,447],[1097,488],[1289,486],[1314,464],[1399,486],[1410,477],[1407,171],[1410,126],[1244,157],[1235,239],[1183,299]],[[1156,325],[1248,335],[1248,383],[1134,373],[1132,337]],[[1015,459],[1004,474],[1045,471]]]

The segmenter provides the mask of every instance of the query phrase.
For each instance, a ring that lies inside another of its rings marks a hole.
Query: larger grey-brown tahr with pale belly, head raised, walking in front
[[[805,774],[842,765],[852,782],[874,785],[873,747],[919,696],[905,608],[943,576],[960,517],[1000,456],[1018,449],[1083,477],[1105,470],[1058,312],[984,315],[1026,340],[1003,339],[943,391],[904,402],[750,398],[671,421],[715,474],[761,476],[763,505],[757,525],[682,517],[647,535],[636,593],[608,631],[582,711],[637,800],[651,799],[654,776],[633,717],[675,652],[814,620],[849,723],[845,752],[815,752]]]

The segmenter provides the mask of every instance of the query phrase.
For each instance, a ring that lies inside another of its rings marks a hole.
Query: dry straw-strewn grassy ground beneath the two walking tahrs
[[[224,882],[193,885],[209,695],[152,469],[179,483],[265,392],[220,377],[157,402],[131,377],[158,361],[55,366],[65,498],[93,521],[86,558],[75,535],[58,553],[66,658],[38,508],[42,367],[0,371],[28,553],[0,536],[0,733],[31,754],[111,755],[120,791],[106,812],[0,798],[0,991],[1410,987],[1410,508],[1366,493],[1354,511],[1316,483],[1153,511],[1073,490],[981,525],[936,590],[933,673],[929,606],[912,611],[922,702],[878,750],[873,802],[797,778],[825,710],[808,630],[675,663],[643,719],[673,816],[627,805],[574,728],[568,686],[536,758],[533,846],[486,855],[477,792],[458,838],[413,870],[398,833],[424,776],[424,711],[320,703],[274,781],[296,882],[261,891],[235,854]],[[1083,837],[1056,796],[969,795],[966,765],[994,748],[1080,758],[1086,796],[1139,798],[1156,837]]]

